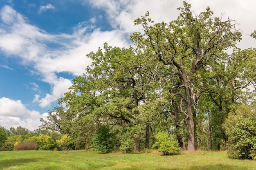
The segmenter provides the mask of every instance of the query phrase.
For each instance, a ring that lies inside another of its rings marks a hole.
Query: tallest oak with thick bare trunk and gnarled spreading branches
[[[132,40],[139,42],[141,50],[151,60],[154,58],[162,63],[163,78],[172,82],[175,79],[171,95],[180,98],[183,106],[180,112],[186,115],[188,122],[188,150],[193,151],[196,148],[195,108],[200,97],[198,86],[204,83],[198,82],[200,74],[220,59],[226,60],[225,50],[235,47],[241,33],[234,20],[213,18],[209,7],[193,15],[191,5],[184,2],[184,7],[178,10],[181,11],[179,17],[169,24],[162,22],[152,26],[149,13],[138,18],[135,24],[140,24],[144,32],[134,33]]]

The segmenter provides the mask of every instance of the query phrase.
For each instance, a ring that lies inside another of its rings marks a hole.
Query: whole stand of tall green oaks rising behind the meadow
[[[105,43],[86,55],[92,64],[40,128],[68,134],[77,149],[138,151],[166,141],[189,151],[234,149],[234,115],[241,107],[254,115],[256,50],[237,47],[235,20],[209,7],[196,15],[186,2],[178,10],[169,23],[154,23],[149,12],[136,19],[142,31],[129,48]]]

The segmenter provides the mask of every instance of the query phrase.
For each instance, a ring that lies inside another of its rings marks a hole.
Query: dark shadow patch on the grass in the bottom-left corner
[[[7,159],[0,161],[0,169],[12,167],[12,166],[20,166],[26,163],[35,162],[38,159],[34,158],[16,158],[16,159]]]

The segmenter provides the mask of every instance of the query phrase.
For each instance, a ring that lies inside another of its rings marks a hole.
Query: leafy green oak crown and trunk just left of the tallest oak
[[[154,90],[151,87],[157,66],[153,65],[153,61],[146,61],[144,55],[135,53],[132,47],[112,48],[105,43],[104,50],[103,53],[99,48],[96,53],[87,55],[93,61],[91,67],[87,68],[88,79],[101,84],[98,86],[98,91],[102,92],[99,95],[101,100],[98,100],[101,107],[97,109],[100,109],[100,112],[107,110],[104,113],[106,117],[116,119],[119,124],[119,121],[125,121],[135,126],[139,121],[139,104]],[[135,150],[139,148],[138,129]]]

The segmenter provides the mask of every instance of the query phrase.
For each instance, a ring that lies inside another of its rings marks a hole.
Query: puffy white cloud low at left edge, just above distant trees
[[[38,111],[28,110],[20,100],[0,98],[0,125],[4,128],[22,126],[35,130],[41,124],[40,117],[43,116]]]

